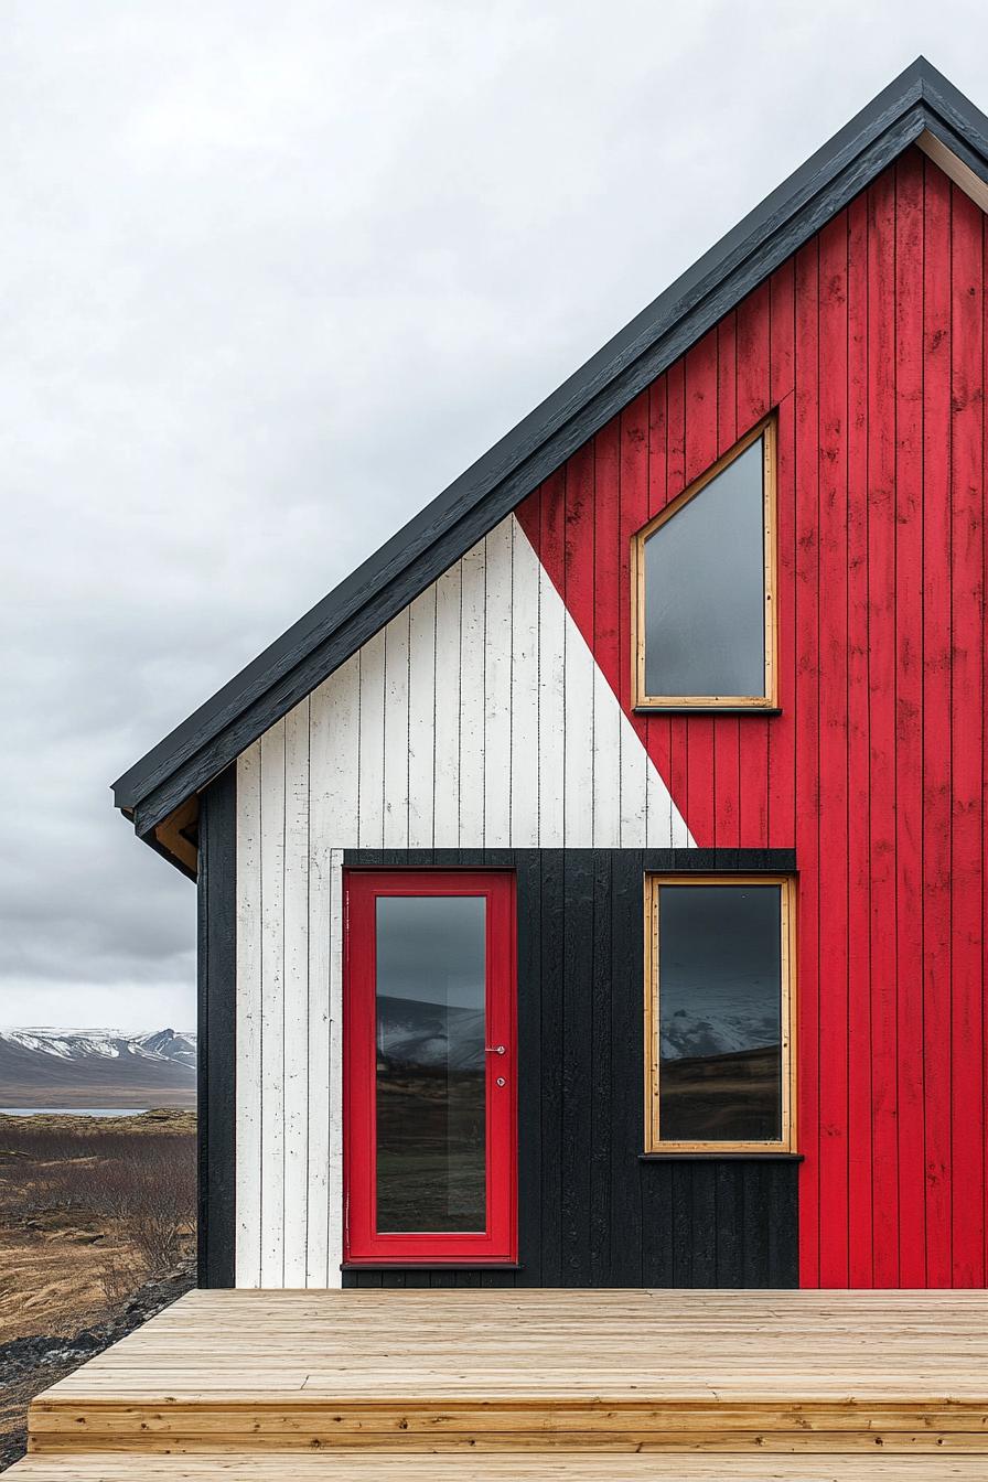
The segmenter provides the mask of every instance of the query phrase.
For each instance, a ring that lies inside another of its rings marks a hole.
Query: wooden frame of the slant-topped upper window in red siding
[[[644,542],[655,535],[667,520],[695,499],[702,489],[729,468],[752,443],[764,439],[763,489],[763,545],[764,545],[764,694],[763,695],[649,695],[644,683]],[[778,416],[770,412],[751,431],[745,433],[733,448],[718,458],[705,473],[693,479],[681,494],[667,504],[655,519],[649,520],[631,536],[631,694],[637,710],[778,710]]]

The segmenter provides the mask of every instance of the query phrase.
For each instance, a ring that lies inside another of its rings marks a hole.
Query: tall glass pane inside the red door
[[[378,898],[378,1232],[486,1227],[481,895]]]

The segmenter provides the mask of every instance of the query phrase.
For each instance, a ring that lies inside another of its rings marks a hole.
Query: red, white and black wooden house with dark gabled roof
[[[985,210],[920,59],[116,784],[204,1285],[985,1285]]]

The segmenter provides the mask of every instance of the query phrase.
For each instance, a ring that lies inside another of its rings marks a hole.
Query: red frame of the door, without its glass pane
[[[517,947],[514,876],[493,870],[348,870],[344,877],[344,1261],[381,1266],[517,1258]],[[487,1229],[471,1235],[376,1230],[376,901],[483,895],[486,907]],[[498,1085],[498,1079],[505,1083]]]

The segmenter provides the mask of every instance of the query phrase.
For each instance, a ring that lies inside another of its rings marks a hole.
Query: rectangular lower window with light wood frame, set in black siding
[[[649,876],[646,1149],[794,1152],[788,876]]]

